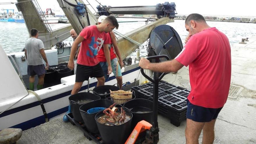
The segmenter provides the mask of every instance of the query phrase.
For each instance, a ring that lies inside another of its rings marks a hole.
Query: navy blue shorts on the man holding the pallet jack
[[[189,102],[187,99],[187,118],[191,119],[195,122],[210,122],[211,120],[215,120],[218,117],[221,108],[212,109],[212,108],[205,108],[202,106],[196,106]]]

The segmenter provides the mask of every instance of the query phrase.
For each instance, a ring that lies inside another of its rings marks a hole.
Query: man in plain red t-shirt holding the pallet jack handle
[[[227,36],[210,27],[202,15],[190,14],[185,21],[189,36],[186,45],[172,61],[150,63],[142,58],[139,66],[158,72],[175,72],[189,65],[191,92],[187,99],[187,143],[213,143],[214,125],[230,87],[231,50]]]

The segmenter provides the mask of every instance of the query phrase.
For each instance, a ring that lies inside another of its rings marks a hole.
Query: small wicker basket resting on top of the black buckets
[[[110,96],[112,97],[114,103],[123,104],[132,99],[132,92],[124,90],[110,90]]]

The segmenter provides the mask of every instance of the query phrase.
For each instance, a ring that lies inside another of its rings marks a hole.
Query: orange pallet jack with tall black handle
[[[147,57],[148,60],[154,59],[156,63],[159,63],[160,58],[170,58],[166,55],[150,56]],[[156,144],[159,142],[159,127],[157,122],[157,112],[158,112],[158,86],[159,81],[163,78],[166,73],[162,73],[159,77],[159,72],[154,72],[154,79],[150,78],[144,73],[143,68],[141,68],[141,74],[153,83],[153,123],[152,125],[145,120],[138,122],[136,127],[131,132],[129,138],[125,144]],[[143,141],[141,140],[143,138]]]

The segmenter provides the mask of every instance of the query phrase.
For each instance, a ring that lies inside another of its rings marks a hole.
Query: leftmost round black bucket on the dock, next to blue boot
[[[71,107],[72,114],[74,116],[74,120],[77,122],[83,123],[83,118],[79,111],[80,106],[85,103],[98,100],[100,99],[100,97],[97,95],[94,95],[93,93],[83,92],[83,93],[77,93],[77,94],[71,95],[68,99],[69,99],[69,104]]]

